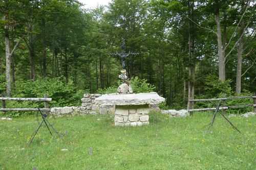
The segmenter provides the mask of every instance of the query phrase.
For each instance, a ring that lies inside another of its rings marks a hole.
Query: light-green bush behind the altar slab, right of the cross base
[[[131,85],[134,93],[148,93],[153,92],[154,85],[147,83],[145,79],[139,79],[137,76],[132,78]]]

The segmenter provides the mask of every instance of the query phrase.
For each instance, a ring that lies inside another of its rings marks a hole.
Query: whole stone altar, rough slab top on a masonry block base
[[[115,126],[143,126],[149,124],[149,105],[164,102],[156,92],[138,94],[105,94],[95,99],[98,105],[115,106]]]

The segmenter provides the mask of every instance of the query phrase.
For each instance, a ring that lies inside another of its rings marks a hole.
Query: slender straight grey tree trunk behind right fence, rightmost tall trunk
[[[245,3],[244,0],[241,0],[241,5],[242,5],[242,11],[241,13],[243,14],[245,11]],[[242,77],[242,54],[243,54],[243,45],[244,45],[244,39],[243,39],[243,34],[244,34],[244,18],[242,18],[241,23],[240,23],[240,40],[239,40],[239,45],[238,45],[238,62],[237,62],[237,79],[236,79],[236,93],[240,94],[241,93],[241,77]]]

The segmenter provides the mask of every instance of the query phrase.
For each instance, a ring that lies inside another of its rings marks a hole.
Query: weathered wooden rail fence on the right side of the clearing
[[[245,98],[252,98],[253,99],[253,104],[226,106],[226,100],[245,99]],[[188,101],[189,101],[189,109],[187,111],[190,113],[190,115],[193,115],[194,111],[216,110],[216,107],[214,107],[214,108],[193,109],[194,102],[213,102],[213,101],[221,101],[221,102],[223,102],[222,103],[222,107],[220,107],[219,110],[224,110],[224,114],[225,114],[225,110],[227,110],[229,108],[239,108],[239,107],[253,107],[253,111],[256,112],[256,96],[255,95],[239,96],[239,97],[232,97],[232,98],[219,98],[219,99],[193,99],[193,100],[188,100]]]

